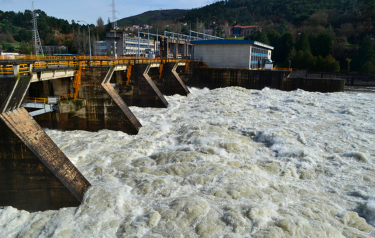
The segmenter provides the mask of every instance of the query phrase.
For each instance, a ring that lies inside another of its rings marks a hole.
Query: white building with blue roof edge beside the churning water
[[[237,39],[192,41],[194,59],[203,60],[209,67],[256,69],[272,64],[274,47]]]

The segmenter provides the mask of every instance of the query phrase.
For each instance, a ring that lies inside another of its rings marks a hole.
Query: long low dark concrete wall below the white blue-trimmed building
[[[265,87],[291,91],[302,89],[311,92],[343,92],[345,80],[341,78],[290,77],[290,71],[248,70],[236,68],[204,68],[191,63],[185,84],[210,89],[239,86],[246,89]]]

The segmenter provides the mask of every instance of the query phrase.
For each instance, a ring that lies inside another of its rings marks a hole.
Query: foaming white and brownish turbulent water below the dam
[[[375,92],[192,88],[131,110],[138,135],[50,137],[77,208],[0,209],[1,237],[375,237]]]

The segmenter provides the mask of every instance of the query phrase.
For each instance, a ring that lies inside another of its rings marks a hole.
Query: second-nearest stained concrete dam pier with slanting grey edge
[[[108,129],[137,134],[141,124],[110,85],[113,74],[113,67],[87,67],[82,71],[78,99],[60,101],[58,112],[35,116],[35,120],[43,127],[62,131]],[[51,87],[39,87],[38,93],[64,95],[73,92],[70,80],[59,81],[52,81]]]

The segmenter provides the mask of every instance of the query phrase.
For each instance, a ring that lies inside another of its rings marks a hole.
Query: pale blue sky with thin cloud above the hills
[[[41,0],[33,1],[34,9],[44,11],[48,16],[71,20],[86,21],[88,24],[95,24],[101,17],[106,24],[108,18],[112,21],[113,0]],[[200,8],[215,2],[215,0],[142,0],[142,1],[124,1],[115,0],[116,17],[122,19],[135,16],[150,10],[167,9],[193,9]],[[0,10],[24,12],[31,10],[32,1],[24,0],[0,0]]]

